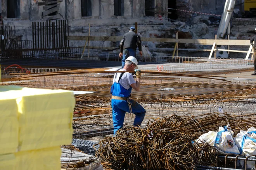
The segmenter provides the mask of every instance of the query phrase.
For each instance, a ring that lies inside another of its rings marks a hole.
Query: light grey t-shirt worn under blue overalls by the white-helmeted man
[[[120,69],[119,71],[126,71],[125,69]],[[121,73],[116,73],[114,75],[114,79],[113,79],[113,84],[114,82],[118,83],[119,80],[119,76],[121,75]],[[124,73],[123,76],[121,77],[120,81],[119,81],[120,85],[125,88],[126,90],[128,90],[129,88],[131,88],[131,84],[136,83],[133,76],[131,75],[131,73]]]

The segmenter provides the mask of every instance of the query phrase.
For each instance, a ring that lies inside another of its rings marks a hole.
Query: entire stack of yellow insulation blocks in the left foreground
[[[60,170],[74,105],[71,91],[0,87],[0,170]]]

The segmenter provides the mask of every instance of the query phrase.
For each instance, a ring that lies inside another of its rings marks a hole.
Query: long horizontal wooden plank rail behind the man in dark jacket
[[[68,36],[67,40],[86,41],[88,36]],[[121,36],[90,36],[90,41],[121,41]],[[147,38],[141,37],[142,41],[152,42],[178,42],[201,45],[212,45],[214,42],[218,45],[250,46],[250,40],[227,40],[227,39],[173,39],[173,38]]]

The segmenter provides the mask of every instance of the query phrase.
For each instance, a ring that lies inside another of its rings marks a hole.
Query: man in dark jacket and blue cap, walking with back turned
[[[140,36],[135,33],[135,27],[130,27],[130,31],[123,36],[123,39],[120,42],[119,58],[123,56],[122,68],[124,68],[125,60],[128,56],[134,56],[136,58],[137,46],[140,51],[140,56],[142,56]]]

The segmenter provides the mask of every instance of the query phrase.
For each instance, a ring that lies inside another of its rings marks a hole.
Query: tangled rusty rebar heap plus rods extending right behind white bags
[[[151,118],[144,129],[125,126],[115,137],[104,138],[95,156],[111,163],[113,169],[188,170],[198,165],[216,166],[218,151],[206,142],[193,140],[227,124],[238,133],[256,126],[255,119],[256,114],[220,113]]]

